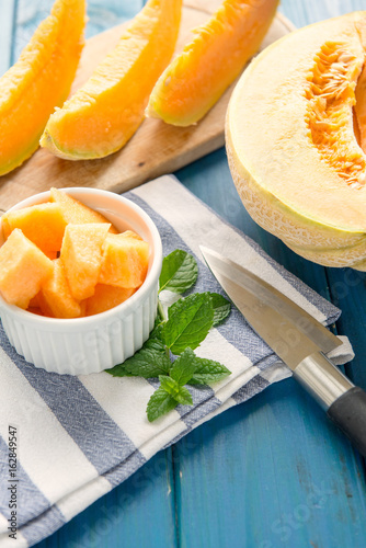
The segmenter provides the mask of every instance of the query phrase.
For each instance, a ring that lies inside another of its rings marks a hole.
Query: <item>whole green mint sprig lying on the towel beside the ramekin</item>
[[[165,289],[182,294],[194,286],[197,275],[195,259],[175,250],[163,259],[159,293]],[[150,422],[178,404],[192,406],[186,385],[216,383],[231,373],[219,362],[194,353],[209,330],[229,313],[230,302],[217,293],[195,293],[180,298],[168,308],[168,318],[159,300],[159,316],[149,339],[134,356],[107,373],[115,377],[159,378],[160,386],[147,406]]]

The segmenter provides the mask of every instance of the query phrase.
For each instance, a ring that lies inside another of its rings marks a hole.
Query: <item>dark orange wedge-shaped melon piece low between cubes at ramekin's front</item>
[[[54,274],[43,284],[38,294],[44,315],[54,318],[78,318],[80,305],[72,297],[60,259],[54,260]]]

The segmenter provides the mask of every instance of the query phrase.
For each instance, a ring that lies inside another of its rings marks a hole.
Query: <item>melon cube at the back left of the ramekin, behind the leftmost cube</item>
[[[61,249],[66,220],[59,204],[37,204],[10,210],[1,217],[1,224],[4,239],[20,228],[45,254]]]

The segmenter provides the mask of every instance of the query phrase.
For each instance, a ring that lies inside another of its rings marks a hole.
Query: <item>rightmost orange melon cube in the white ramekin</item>
[[[139,287],[148,270],[149,244],[125,233],[108,235],[103,244],[100,284]]]

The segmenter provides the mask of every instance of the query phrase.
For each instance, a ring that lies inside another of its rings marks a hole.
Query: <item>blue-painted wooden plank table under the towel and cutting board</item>
[[[0,0],[0,72],[13,62],[52,0]],[[142,0],[90,0],[88,34],[133,16]],[[304,26],[366,0],[282,0]],[[178,178],[231,224],[343,310],[336,324],[366,388],[365,274],[295,255],[248,216],[224,149]],[[159,453],[38,548],[364,548],[365,469],[348,442],[291,379],[273,385]]]

